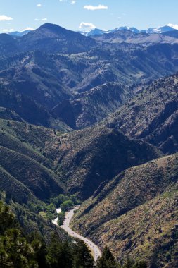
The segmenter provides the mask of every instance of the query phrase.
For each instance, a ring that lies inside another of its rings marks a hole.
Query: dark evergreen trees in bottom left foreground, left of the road
[[[84,242],[60,242],[53,233],[49,245],[42,236],[25,236],[10,207],[0,202],[0,267],[1,268],[91,268],[94,260]]]

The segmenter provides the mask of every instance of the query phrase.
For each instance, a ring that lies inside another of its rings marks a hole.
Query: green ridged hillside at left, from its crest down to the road
[[[0,119],[0,197],[3,193],[26,233],[39,232],[49,242],[56,231],[66,239],[45,217],[47,200],[66,193],[53,163],[62,133],[9,119]]]

